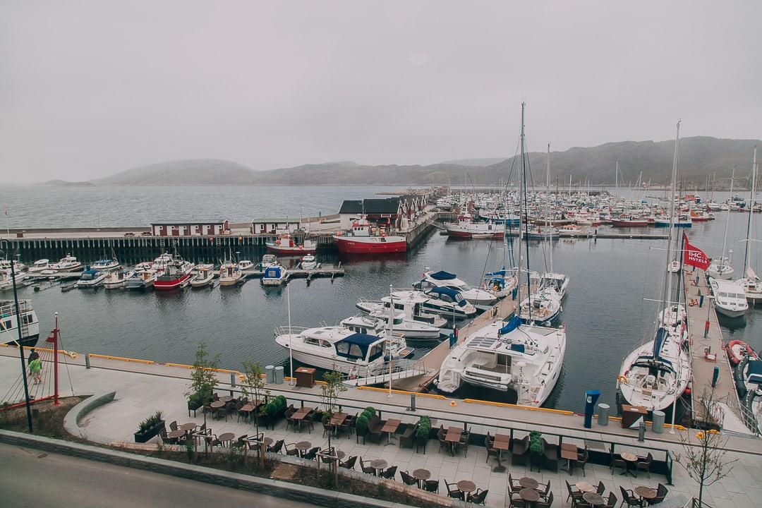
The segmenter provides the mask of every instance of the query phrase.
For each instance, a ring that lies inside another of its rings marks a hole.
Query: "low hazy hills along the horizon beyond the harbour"
[[[703,183],[716,174],[717,181],[727,179],[736,167],[737,185],[746,184],[751,170],[754,145],[751,139],[717,139],[696,136],[680,139],[680,179],[686,184]],[[672,167],[674,140],[610,142],[589,148],[551,152],[553,184],[589,181],[613,185],[616,162],[620,163],[620,182],[642,181],[665,184]],[[762,157],[762,154],[760,154]],[[325,162],[252,171],[233,161],[191,159],[158,162],[133,168],[110,177],[91,181],[97,185],[428,185],[462,184],[467,174],[469,185],[497,184],[517,176],[517,156],[475,158],[433,165],[361,165],[352,161]],[[545,182],[546,153],[530,152],[532,180]],[[513,172],[511,172],[511,168]],[[48,182],[47,184],[67,184]]]

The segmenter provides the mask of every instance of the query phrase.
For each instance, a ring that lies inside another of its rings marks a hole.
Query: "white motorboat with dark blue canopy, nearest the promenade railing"
[[[277,327],[274,337],[300,363],[360,377],[383,374],[386,360],[407,350],[402,337],[360,334],[343,326]]]

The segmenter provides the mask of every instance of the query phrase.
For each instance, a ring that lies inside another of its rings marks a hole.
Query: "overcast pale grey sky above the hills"
[[[0,2],[0,183],[762,136],[762,2]]]

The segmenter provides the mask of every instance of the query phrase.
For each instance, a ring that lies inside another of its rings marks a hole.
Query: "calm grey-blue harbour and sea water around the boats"
[[[144,190],[133,188],[129,192]],[[226,193],[219,188],[213,191],[218,195]],[[316,214],[319,211],[335,212],[344,197],[372,196],[378,191],[378,187],[293,187],[280,188],[277,193],[283,193],[280,197],[292,193],[292,203],[312,203],[313,208],[308,211],[305,206],[304,213]],[[56,190],[69,199],[62,199],[57,204],[38,202],[37,210],[32,207],[25,213],[46,218],[37,219],[38,226],[51,225],[46,222],[49,220],[62,221],[52,208],[64,206],[62,203],[72,203],[90,216],[97,214],[101,221],[108,216],[113,225],[140,224],[153,219],[147,218],[148,212],[139,206],[130,206],[126,208],[129,212],[120,216],[114,212],[111,216],[107,210],[126,206],[123,201],[117,200],[111,203],[112,206],[96,206],[94,203],[102,203],[103,196],[100,196],[98,200],[77,203],[75,196],[81,196],[82,192],[82,189]],[[91,189],[84,192],[98,195]],[[146,192],[165,196],[170,190],[152,187]],[[232,220],[260,216],[261,203],[271,199],[262,193],[277,194],[271,188],[251,187],[239,190],[239,193],[229,193],[227,200],[217,203],[219,206],[210,203],[208,206],[214,210],[203,210],[196,206],[199,194],[203,194],[201,190],[183,187],[173,192],[177,193],[175,205],[168,208],[172,209],[174,217],[230,216]],[[256,193],[256,198],[252,193]],[[252,199],[258,203],[249,203]],[[25,206],[31,207],[28,203]],[[243,209],[251,211],[242,212]],[[286,205],[269,211],[271,216],[299,215],[298,208],[294,212],[293,206],[288,208]],[[688,230],[693,243],[710,256],[717,256],[722,250],[726,216],[726,212],[719,212],[715,221],[696,224]],[[733,212],[730,219],[728,245],[735,251],[733,259],[737,273],[740,273],[744,248],[738,240],[745,238],[747,216]],[[760,238],[762,217],[755,216],[755,221],[757,225],[752,237]],[[74,223],[91,225],[85,219]],[[623,357],[653,334],[655,304],[644,299],[660,296],[660,280],[666,272],[663,247],[663,241],[645,240],[553,242],[555,270],[568,273],[571,284],[562,316],[568,335],[565,364],[559,385],[549,401],[550,406],[581,411],[584,390],[588,388],[600,388],[602,401],[614,404],[616,375]],[[531,244],[534,269],[544,270],[544,259],[549,255],[546,249],[546,244]],[[759,271],[762,270],[759,252],[762,248],[756,250],[752,266]],[[503,254],[501,242],[450,241],[434,233],[401,257],[341,259],[347,269],[344,278],[333,283],[313,280],[310,286],[304,280],[290,283],[292,321],[301,326],[314,326],[319,322],[335,324],[357,313],[354,304],[358,297],[379,298],[388,292],[389,284],[409,286],[427,267],[453,271],[471,283],[478,283],[485,270],[501,267]],[[190,257],[191,253],[187,255]],[[246,255],[256,260],[261,251]],[[146,254],[148,257],[154,257],[154,254]],[[318,257],[324,263],[338,261],[335,254],[319,254]],[[59,312],[66,347],[82,353],[89,351],[191,363],[197,344],[206,340],[211,350],[220,353],[223,365],[229,368],[239,368],[244,359],[255,359],[263,364],[287,363],[287,354],[273,341],[273,328],[287,324],[286,289],[266,290],[257,281],[235,288],[186,289],[169,294],[107,292],[104,289],[62,293],[57,288],[34,293],[31,288],[26,288],[21,297],[33,300],[44,329],[52,327],[53,312]],[[723,327],[725,338],[741,338],[755,350],[762,349],[760,313],[762,306],[757,306],[748,312],[745,321],[726,323]],[[485,398],[483,391],[479,396]]]

